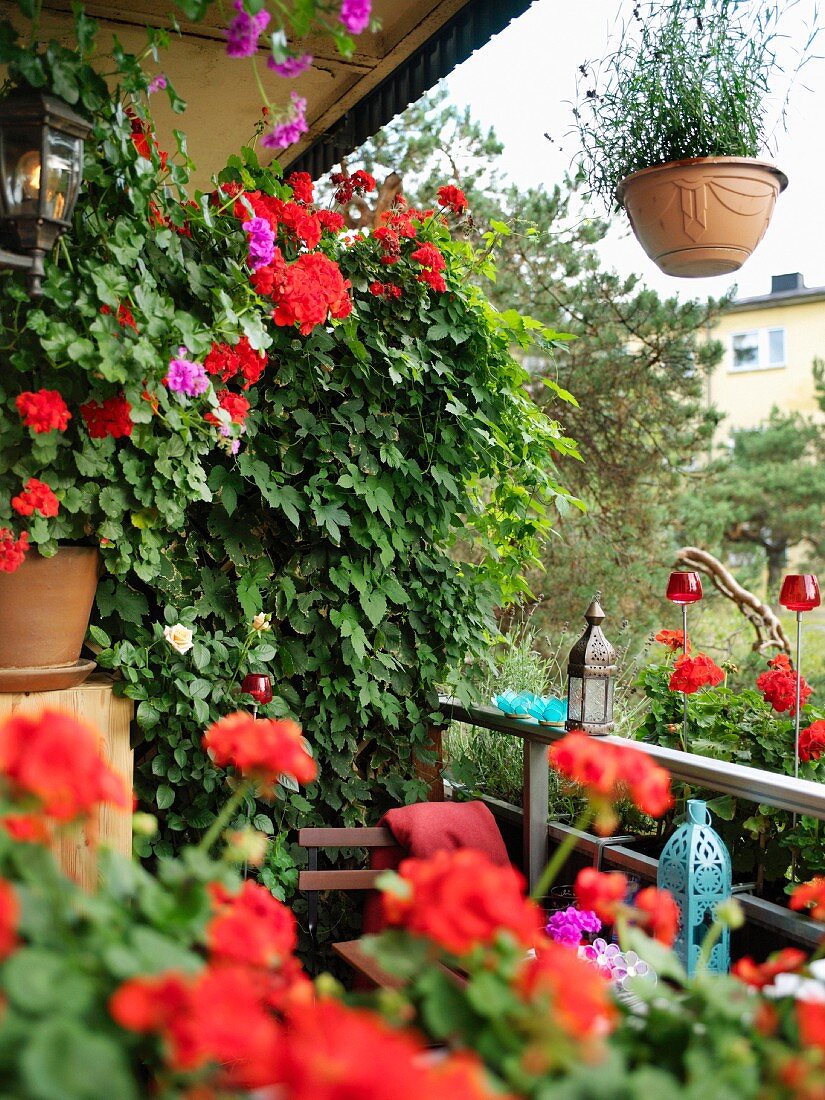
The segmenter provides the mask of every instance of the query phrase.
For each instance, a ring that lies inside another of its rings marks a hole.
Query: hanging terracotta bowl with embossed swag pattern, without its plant
[[[702,278],[741,267],[787,186],[784,173],[765,161],[707,156],[635,172],[616,200],[666,275]]]

